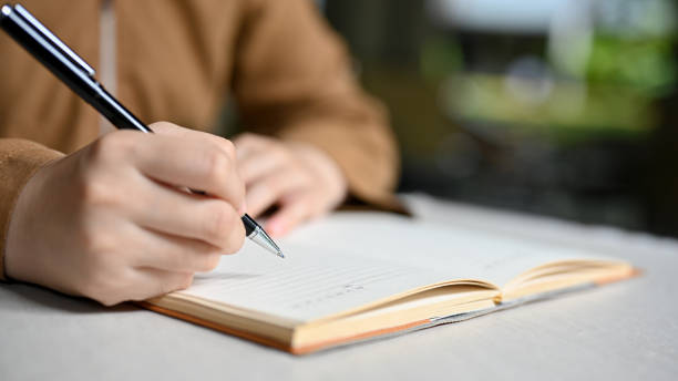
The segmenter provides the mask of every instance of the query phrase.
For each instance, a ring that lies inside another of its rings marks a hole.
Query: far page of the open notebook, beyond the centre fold
[[[332,243],[337,251],[429,268],[445,274],[448,280],[479,279],[500,287],[547,262],[610,259],[574,248],[384,213],[336,213],[298,229],[285,243],[315,245],[318,250],[318,243]]]

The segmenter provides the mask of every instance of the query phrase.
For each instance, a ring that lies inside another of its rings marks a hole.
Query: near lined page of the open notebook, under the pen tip
[[[253,243],[196,275],[182,294],[238,308],[309,321],[445,280],[445,275],[351,253],[282,245],[286,258]]]

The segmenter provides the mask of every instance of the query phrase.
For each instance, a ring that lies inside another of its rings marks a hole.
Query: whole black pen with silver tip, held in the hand
[[[73,50],[20,4],[2,6],[0,27],[75,94],[99,111],[115,127],[153,133],[96,81],[95,71]],[[280,248],[251,217],[242,217],[247,238],[285,258]]]

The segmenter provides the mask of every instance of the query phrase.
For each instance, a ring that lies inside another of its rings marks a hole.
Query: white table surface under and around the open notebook
[[[130,306],[0,285],[0,380],[678,379],[678,241],[404,198],[420,218],[595,248],[645,274],[306,357]]]

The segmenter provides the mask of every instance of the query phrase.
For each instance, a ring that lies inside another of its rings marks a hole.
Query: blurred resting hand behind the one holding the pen
[[[337,164],[322,151],[255,134],[234,140],[238,172],[247,188],[247,213],[279,209],[265,229],[281,236],[304,220],[328,213],[343,200],[347,182]]]

